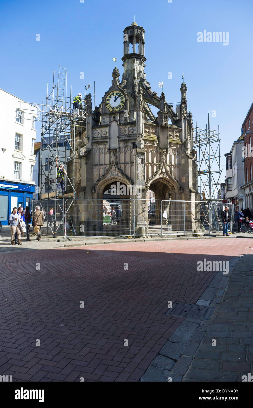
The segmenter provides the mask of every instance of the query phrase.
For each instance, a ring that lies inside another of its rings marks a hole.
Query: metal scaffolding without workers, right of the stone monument
[[[216,200],[220,191],[220,127],[210,130],[210,113],[206,129],[197,126],[193,137],[193,150],[195,150],[196,163],[198,164],[198,192],[205,200]]]

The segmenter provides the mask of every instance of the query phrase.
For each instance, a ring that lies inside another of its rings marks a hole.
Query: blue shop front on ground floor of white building
[[[0,221],[2,225],[8,225],[13,207],[28,206],[31,209],[34,192],[35,184],[0,180]]]

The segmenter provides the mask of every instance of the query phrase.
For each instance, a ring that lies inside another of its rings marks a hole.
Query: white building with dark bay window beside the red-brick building
[[[226,198],[228,201],[238,201],[238,207],[243,206],[244,191],[240,186],[244,184],[243,166],[243,136],[233,142],[233,146],[226,157]]]

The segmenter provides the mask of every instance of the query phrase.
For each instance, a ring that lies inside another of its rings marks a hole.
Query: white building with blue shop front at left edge
[[[31,206],[37,108],[0,89],[0,221],[14,206]]]

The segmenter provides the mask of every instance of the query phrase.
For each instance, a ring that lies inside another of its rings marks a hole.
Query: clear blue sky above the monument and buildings
[[[123,29],[135,20],[145,29],[147,81],[167,102],[180,102],[185,73],[187,104],[194,124],[205,127],[208,111],[216,111],[211,129],[221,136],[221,163],[253,101],[251,0],[128,0],[43,2],[0,0],[0,88],[28,102],[42,103],[53,71],[67,66],[68,91],[84,95],[96,81],[99,105],[111,85],[112,57],[122,75]],[[229,45],[199,43],[200,31],[229,32]],[[40,41],[36,41],[40,34]],[[80,79],[84,72],[84,79]],[[172,79],[167,78],[172,72]],[[37,123],[37,140],[40,126]],[[222,171],[222,181],[225,169]]]

